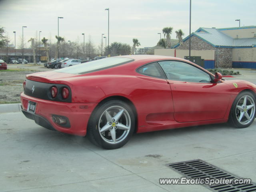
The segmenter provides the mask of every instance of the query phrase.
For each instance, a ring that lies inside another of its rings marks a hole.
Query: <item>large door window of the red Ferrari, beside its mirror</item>
[[[210,75],[203,70],[180,61],[158,62],[169,80],[210,83]]]

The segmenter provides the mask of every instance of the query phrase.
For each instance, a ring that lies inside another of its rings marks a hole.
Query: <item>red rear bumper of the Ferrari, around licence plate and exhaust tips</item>
[[[57,130],[67,134],[79,136],[86,135],[88,120],[97,103],[66,103],[54,102],[20,95],[23,114],[36,122],[36,124],[50,130]],[[27,111],[28,101],[36,102],[35,114]],[[52,115],[65,116],[70,122],[70,127],[60,126],[53,121]]]

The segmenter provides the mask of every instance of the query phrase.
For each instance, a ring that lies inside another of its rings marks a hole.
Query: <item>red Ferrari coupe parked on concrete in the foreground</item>
[[[29,74],[23,86],[27,118],[106,149],[134,132],[224,122],[245,128],[255,118],[255,84],[175,57],[110,57]]]

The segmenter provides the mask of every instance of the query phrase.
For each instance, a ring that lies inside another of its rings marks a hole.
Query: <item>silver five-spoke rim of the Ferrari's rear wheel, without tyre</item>
[[[129,134],[131,118],[122,106],[111,106],[100,116],[98,129],[101,138],[109,144],[122,142]]]

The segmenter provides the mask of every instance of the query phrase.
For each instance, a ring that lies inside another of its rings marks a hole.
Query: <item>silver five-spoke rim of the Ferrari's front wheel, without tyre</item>
[[[255,116],[254,99],[245,95],[236,104],[236,118],[240,124],[249,124]]]

